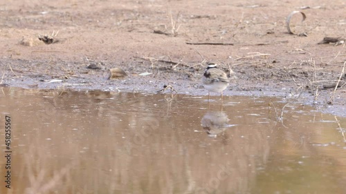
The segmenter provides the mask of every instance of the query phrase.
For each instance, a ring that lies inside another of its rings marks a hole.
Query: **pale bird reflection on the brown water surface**
[[[203,116],[201,124],[209,137],[217,137],[218,134],[224,132],[235,124],[228,124],[230,119],[224,111],[208,111]]]

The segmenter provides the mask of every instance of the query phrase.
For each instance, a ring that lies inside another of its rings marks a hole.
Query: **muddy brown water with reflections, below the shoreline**
[[[282,99],[1,88],[0,107],[0,193],[346,193],[346,119]]]

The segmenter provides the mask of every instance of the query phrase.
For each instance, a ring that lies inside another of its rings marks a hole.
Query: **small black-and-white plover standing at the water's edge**
[[[226,72],[217,68],[217,64],[208,64],[206,72],[202,77],[204,88],[208,90],[208,100],[210,92],[221,93],[221,101],[223,92],[227,88],[230,80],[228,79]]]

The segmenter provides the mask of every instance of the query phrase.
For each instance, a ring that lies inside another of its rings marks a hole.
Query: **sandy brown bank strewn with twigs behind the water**
[[[294,10],[307,19],[295,14],[291,27],[307,37],[286,30]],[[345,44],[318,44],[345,38],[345,10],[343,0],[3,2],[1,86],[206,95],[213,61],[234,72],[225,95],[284,96],[346,117],[345,86],[334,91]],[[57,31],[56,43],[38,39]],[[127,77],[109,80],[115,67]]]

